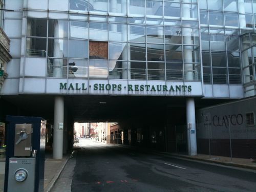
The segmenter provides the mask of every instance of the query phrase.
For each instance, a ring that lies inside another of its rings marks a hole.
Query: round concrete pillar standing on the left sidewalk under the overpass
[[[63,129],[59,126],[64,120],[64,98],[55,97],[54,102],[54,132],[53,132],[53,159],[62,159]]]

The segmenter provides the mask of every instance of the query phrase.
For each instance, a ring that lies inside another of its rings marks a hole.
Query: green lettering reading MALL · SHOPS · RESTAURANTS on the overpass
[[[122,86],[122,84],[104,84],[95,83],[92,87],[94,91],[121,91],[127,89],[127,91],[163,91],[163,92],[191,92],[191,86],[166,86],[166,85],[149,85],[149,84],[128,84]],[[59,83],[60,90],[87,90],[85,83]]]

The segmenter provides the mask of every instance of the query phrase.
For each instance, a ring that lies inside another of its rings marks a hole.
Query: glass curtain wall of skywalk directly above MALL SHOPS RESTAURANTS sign
[[[202,80],[197,1],[58,2],[28,1],[26,57],[48,77]]]

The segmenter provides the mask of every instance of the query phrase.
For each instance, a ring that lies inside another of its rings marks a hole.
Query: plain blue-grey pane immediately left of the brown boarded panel
[[[69,57],[88,58],[88,40],[69,40]]]

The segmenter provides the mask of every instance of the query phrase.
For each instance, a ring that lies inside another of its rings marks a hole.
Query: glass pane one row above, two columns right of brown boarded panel
[[[146,30],[145,26],[142,25],[129,25],[130,28],[129,32],[129,41],[134,42],[145,42],[146,38]]]

